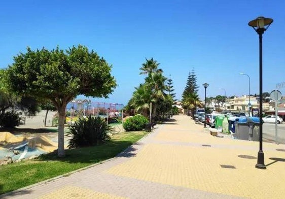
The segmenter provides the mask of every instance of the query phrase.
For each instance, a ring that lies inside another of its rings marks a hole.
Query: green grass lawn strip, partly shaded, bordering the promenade
[[[0,167],[0,194],[112,158],[146,134],[145,131],[122,132],[99,146],[68,149],[64,158],[49,153],[33,160],[3,165]]]

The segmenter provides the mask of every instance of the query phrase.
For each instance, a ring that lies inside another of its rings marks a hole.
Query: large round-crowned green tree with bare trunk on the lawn
[[[77,95],[108,97],[116,87],[111,66],[93,50],[73,46],[67,50],[58,47],[20,53],[7,69],[9,88],[22,96],[39,101],[49,100],[57,109],[58,156],[64,152],[65,108]]]

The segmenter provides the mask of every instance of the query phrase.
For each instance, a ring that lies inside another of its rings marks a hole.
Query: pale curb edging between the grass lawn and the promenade
[[[152,131],[151,131],[151,132],[152,132]],[[100,162],[97,162],[97,163],[88,165],[88,166],[86,166],[86,167],[84,167],[84,168],[80,168],[80,169],[78,169],[78,170],[75,170],[75,171],[72,171],[72,172],[68,172],[68,173],[62,174],[62,175],[60,175],[60,176],[56,176],[56,177],[53,177],[53,178],[50,178],[50,179],[47,179],[47,180],[44,180],[44,181],[41,181],[41,182],[37,182],[37,183],[31,184],[31,185],[28,185],[28,186],[25,186],[25,187],[16,189],[16,190],[14,190],[14,191],[10,191],[10,192],[8,192],[8,193],[3,193],[3,194],[0,195],[0,198],[6,197],[6,196],[9,196],[9,195],[14,195],[14,194],[16,194],[16,193],[20,193],[20,192],[23,191],[23,190],[30,189],[30,188],[32,188],[32,187],[39,186],[39,185],[42,185],[42,184],[46,184],[46,183],[48,183],[48,182],[55,181],[55,180],[57,180],[57,179],[59,179],[59,178],[67,177],[67,176],[70,176],[70,175],[72,175],[72,174],[74,174],[74,173],[81,172],[81,171],[86,170],[86,169],[89,169],[89,168],[91,168],[91,167],[95,167],[95,166],[98,165],[98,164],[102,164],[102,163],[111,161],[111,160],[113,160],[113,159],[116,159],[116,158],[119,157],[119,155],[120,155],[121,153],[124,153],[124,152],[127,151],[129,148],[131,148],[133,145],[135,145],[136,143],[138,143],[138,142],[140,142],[141,140],[147,138],[147,137],[151,134],[151,132],[148,132],[148,134],[147,134],[146,136],[142,137],[141,139],[139,139],[138,141],[136,141],[136,142],[133,143],[132,145],[128,146],[125,150],[121,151],[121,152],[118,153],[116,156],[114,156],[114,157],[112,157],[112,158],[110,158],[110,159],[106,159],[106,160],[103,160],[103,161],[100,161]]]

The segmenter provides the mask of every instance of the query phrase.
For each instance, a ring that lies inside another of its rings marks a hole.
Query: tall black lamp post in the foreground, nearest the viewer
[[[262,35],[265,30],[273,22],[273,19],[258,17],[255,20],[248,22],[248,25],[253,27],[259,35],[259,151],[257,157],[257,164],[255,165],[258,169],[266,169],[264,164],[264,153],[262,150]]]

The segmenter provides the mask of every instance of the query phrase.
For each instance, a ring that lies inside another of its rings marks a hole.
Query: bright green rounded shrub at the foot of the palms
[[[123,126],[126,131],[135,131],[144,129],[146,123],[149,123],[148,118],[143,115],[135,115],[126,119],[126,121],[123,123]]]

